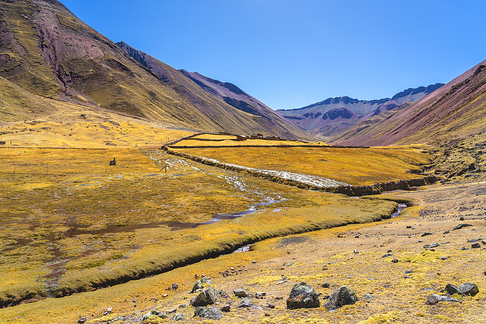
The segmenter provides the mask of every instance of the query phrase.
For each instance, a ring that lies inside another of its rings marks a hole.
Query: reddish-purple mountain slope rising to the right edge
[[[362,120],[331,141],[344,145],[449,145],[486,131],[486,60],[404,109]]]

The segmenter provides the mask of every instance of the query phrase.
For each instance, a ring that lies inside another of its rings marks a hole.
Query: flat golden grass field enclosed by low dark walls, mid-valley
[[[405,173],[416,168],[409,163],[428,163],[430,155],[421,149],[341,148],[225,148],[177,149],[191,155],[213,158],[256,169],[289,171],[320,176],[350,185],[370,185],[420,178]],[[389,179],[391,178],[391,179]]]

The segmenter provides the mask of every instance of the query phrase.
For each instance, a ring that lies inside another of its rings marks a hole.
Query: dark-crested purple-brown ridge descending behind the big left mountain
[[[177,94],[228,130],[240,128],[244,129],[243,134],[266,133],[289,139],[312,140],[301,129],[236,85],[222,83],[199,73],[176,70],[125,42],[118,42],[117,45]]]

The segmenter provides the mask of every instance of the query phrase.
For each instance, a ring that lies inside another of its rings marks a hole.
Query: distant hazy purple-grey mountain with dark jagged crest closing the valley
[[[406,102],[418,101],[442,85],[444,84],[437,83],[427,87],[408,88],[392,98],[379,100],[328,98],[302,108],[278,110],[278,112],[313,134],[330,137],[351,127],[359,120],[368,119],[396,107],[403,107]]]

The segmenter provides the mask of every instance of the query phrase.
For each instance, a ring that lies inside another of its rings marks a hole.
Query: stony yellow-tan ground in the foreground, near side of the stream
[[[180,323],[482,323],[486,304],[485,249],[483,245],[471,248],[468,240],[481,242],[485,238],[485,180],[478,176],[420,191],[390,193],[411,198],[416,206],[389,221],[267,239],[253,244],[249,252],[204,260],[143,280],[8,307],[0,310],[0,322],[75,323],[86,316],[87,323],[140,323],[141,316],[151,309],[164,312],[185,304],[177,310],[185,316]],[[472,226],[452,230],[459,223]],[[425,232],[432,234],[422,237]],[[440,245],[423,248],[435,242]],[[392,256],[382,257],[390,250]],[[398,263],[392,263],[393,258]],[[230,267],[242,271],[223,277],[220,272]],[[189,292],[195,273],[210,276],[214,288],[230,295],[216,305],[220,308],[232,304],[221,320],[193,317],[189,301],[194,294]],[[277,284],[282,276],[287,281]],[[299,281],[306,281],[322,293],[319,308],[286,309],[290,290]],[[321,287],[325,282],[329,288]],[[442,294],[447,284],[459,286],[466,282],[478,285],[476,296],[455,295],[459,302],[424,304],[430,295]],[[166,290],[172,283],[177,283],[179,289]],[[360,301],[327,310],[323,296],[341,285],[354,290]],[[232,291],[238,288],[248,292],[255,308],[237,308],[240,300]],[[263,299],[255,298],[259,291],[266,292]],[[373,298],[363,299],[366,293]],[[268,308],[268,304],[275,308]],[[112,307],[112,312],[103,316],[107,307]],[[171,317],[153,323],[173,323]]]

